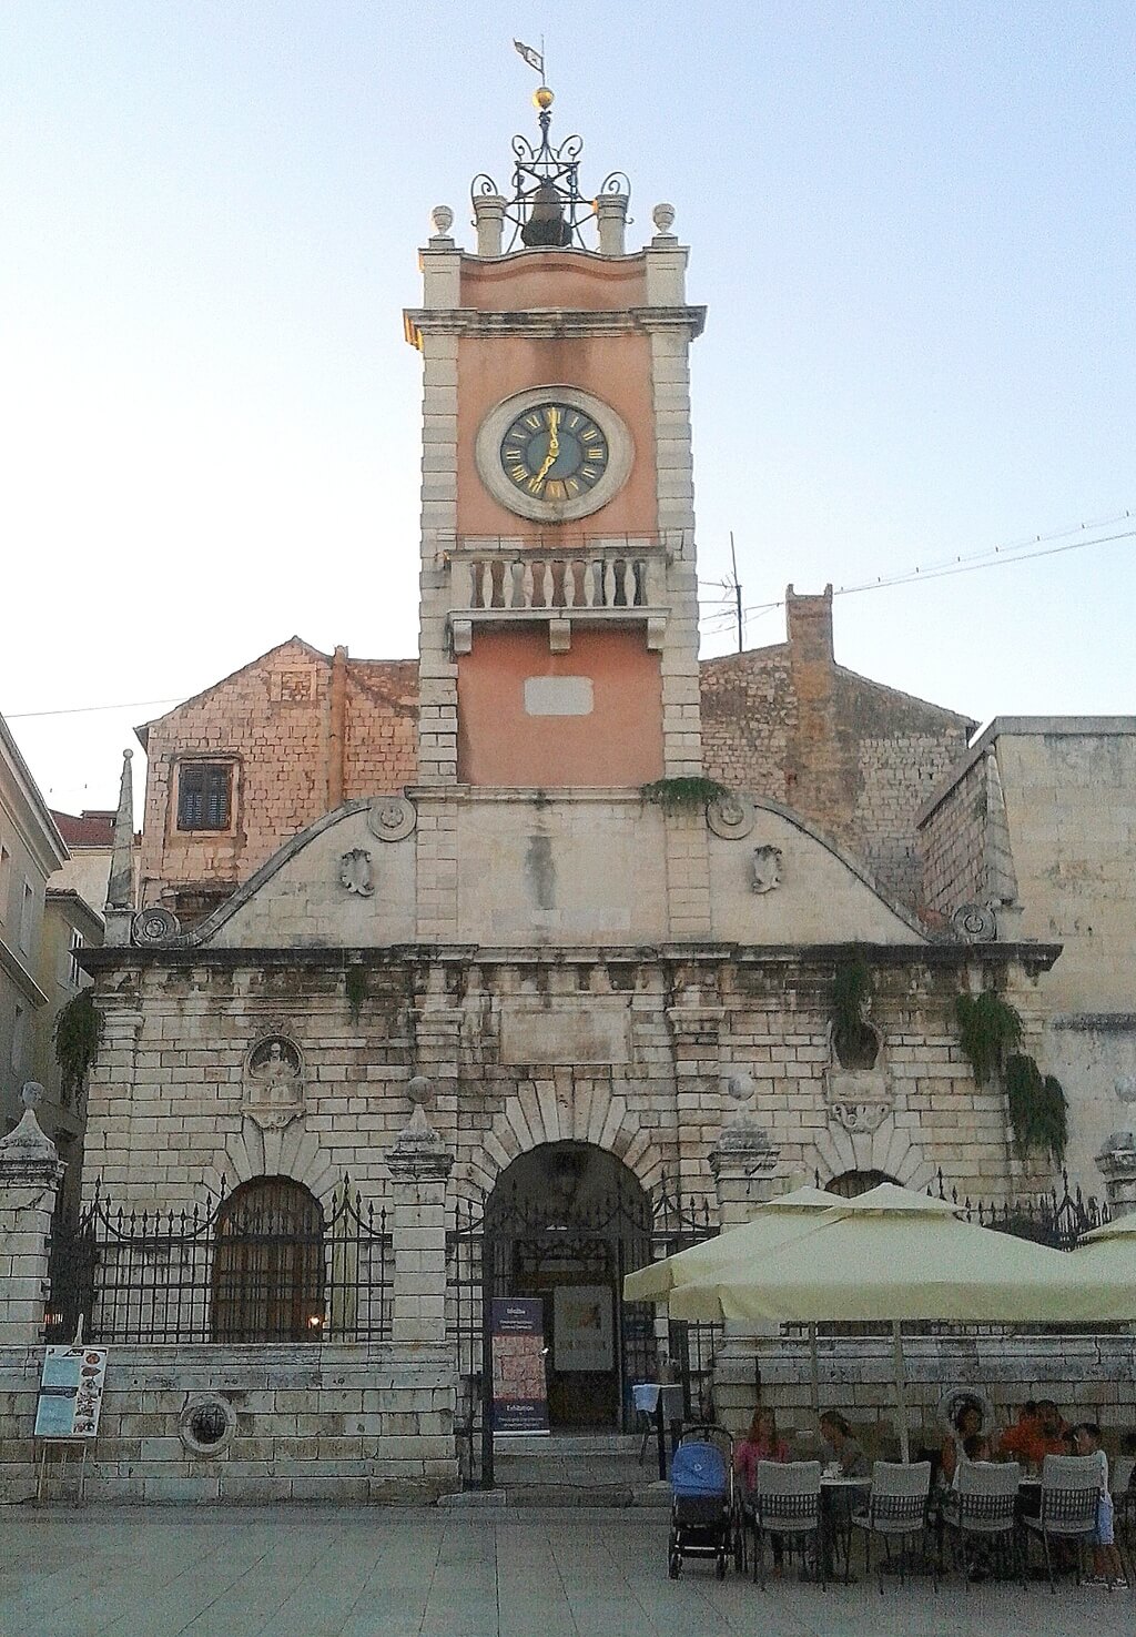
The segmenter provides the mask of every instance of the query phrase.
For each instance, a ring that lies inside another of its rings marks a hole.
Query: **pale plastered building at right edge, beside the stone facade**
[[[1000,936],[1062,954],[1038,1061],[1069,1100],[1069,1169],[1136,1105],[1136,719],[995,719],[920,817],[928,902],[992,905]],[[1008,933],[1007,933],[1008,928]]]

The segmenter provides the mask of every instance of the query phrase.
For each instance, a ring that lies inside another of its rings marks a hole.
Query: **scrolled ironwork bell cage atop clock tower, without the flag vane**
[[[622,170],[612,170],[599,185],[599,193],[586,198],[579,192],[583,138],[566,136],[563,142],[553,146],[550,138],[553,95],[542,85],[532,100],[537,108],[540,141],[532,142],[521,134],[512,138],[511,195],[503,193],[485,172],[473,178],[470,196],[478,229],[486,218],[491,218],[494,226],[501,224],[501,229],[509,223],[512,231],[507,244],[501,244],[501,249],[494,244],[496,254],[507,255],[517,249],[517,241],[529,250],[599,249],[601,254],[622,254],[622,224],[629,219],[630,182]],[[597,246],[584,239],[583,229],[591,221],[597,224]],[[619,224],[619,234],[606,232],[609,221]],[[503,231],[501,239],[504,239]]]

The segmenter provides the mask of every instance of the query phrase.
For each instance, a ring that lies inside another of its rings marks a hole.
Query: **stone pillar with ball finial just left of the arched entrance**
[[[426,1116],[431,1080],[409,1082],[414,1112],[386,1151],[393,1177],[391,1249],[394,1300],[391,1341],[445,1341],[445,1179],[453,1154]]]

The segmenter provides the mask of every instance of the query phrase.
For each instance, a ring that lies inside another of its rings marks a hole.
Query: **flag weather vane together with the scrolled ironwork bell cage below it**
[[[512,138],[512,195],[504,198],[504,216],[512,223],[512,237],[506,246],[506,254],[514,249],[517,239],[525,249],[589,249],[584,244],[583,228],[597,214],[596,200],[584,198],[579,192],[579,156],[584,144],[579,136],[566,136],[563,142],[552,146],[552,103],[553,93],[545,83],[545,43],[540,39],[540,51],[514,39],[514,49],[540,75],[540,85],[534,92],[537,121],[540,124],[540,141],[530,142],[527,136]],[[485,172],[473,178],[471,195],[503,198],[493,177]],[[604,177],[601,195],[617,193],[630,196],[630,182],[622,170],[612,170]]]

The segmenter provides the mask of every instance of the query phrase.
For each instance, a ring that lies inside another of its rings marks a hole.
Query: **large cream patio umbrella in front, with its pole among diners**
[[[900,1323],[1080,1318],[1071,1311],[1066,1262],[1061,1251],[961,1221],[946,1200],[882,1182],[858,1198],[835,1202],[812,1233],[781,1244],[776,1254],[737,1262],[702,1285],[676,1287],[669,1310],[674,1318],[701,1316],[709,1298],[717,1318],[735,1323],[890,1321],[907,1460]],[[1085,1295],[1084,1316],[1100,1316],[1092,1290]]]

